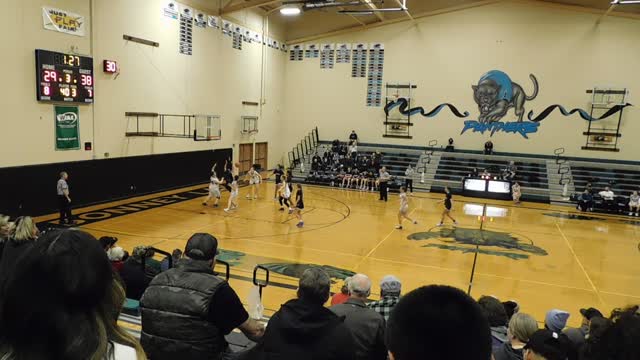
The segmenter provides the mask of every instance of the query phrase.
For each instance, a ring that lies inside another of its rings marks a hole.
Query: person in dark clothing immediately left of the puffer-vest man
[[[124,282],[127,298],[140,300],[149,286],[151,279],[160,272],[150,265],[152,254],[147,246],[136,246],[131,256],[120,269],[120,277]],[[144,266],[142,265],[144,261]]]

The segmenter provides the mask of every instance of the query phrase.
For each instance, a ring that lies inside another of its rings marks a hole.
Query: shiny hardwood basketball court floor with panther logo
[[[378,201],[376,193],[304,186],[305,227],[278,211],[273,183],[261,185],[259,200],[246,200],[230,214],[203,207],[204,186],[181,189],[76,210],[79,226],[96,237],[119,238],[119,246],[153,245],[171,252],[196,232],[220,240],[222,260],[231,267],[231,285],[246,302],[256,265],[271,269],[264,290],[266,315],[295,296],[295,275],[305,265],[324,265],[339,291],[349,272],[378,281],[394,274],[407,292],[425,284],[449,284],[471,295],[514,299],[539,321],[552,308],[571,312],[595,306],[608,313],[640,303],[640,220],[580,214],[572,208],[536,203],[454,197],[460,225],[435,227],[441,194],[417,193],[404,230],[395,230],[397,195]],[[221,204],[226,205],[227,193]],[[486,209],[485,206],[486,205]],[[486,211],[487,216],[481,214]],[[55,216],[39,218],[53,220]],[[636,218],[637,219],[637,218]],[[477,254],[477,256],[476,256]],[[475,263],[475,271],[474,271]],[[217,270],[222,271],[222,267]]]

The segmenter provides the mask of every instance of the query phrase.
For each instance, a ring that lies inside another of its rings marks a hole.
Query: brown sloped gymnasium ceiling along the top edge
[[[400,19],[409,19],[413,16],[421,14],[446,12],[455,10],[456,8],[472,7],[474,5],[482,5],[497,0],[407,0],[409,12],[387,12],[378,13],[376,15],[359,15],[350,16],[338,14],[336,8],[323,10],[305,11],[299,16],[285,17],[280,15],[278,9],[282,6],[282,0],[200,0],[215,3],[214,6],[219,7],[222,14],[229,13],[244,8],[256,8],[265,13],[269,13],[272,21],[281,23],[286,33],[286,40],[292,41],[296,39],[304,39],[349,28],[358,28],[365,25],[373,25],[376,23],[387,21],[398,21]],[[338,0],[342,1],[342,0]],[[380,8],[397,8],[401,0],[369,0],[375,2],[373,5],[363,5],[360,9],[366,9],[367,6],[378,6]],[[605,14],[607,10],[615,12],[615,14],[627,15],[640,19],[640,4],[638,5],[617,5],[610,9],[611,0],[530,0],[545,3],[556,3],[561,5],[569,5],[585,8],[587,11],[602,12]],[[382,2],[382,4],[380,4]],[[213,4],[212,4],[213,5]],[[353,7],[350,9],[354,9]]]

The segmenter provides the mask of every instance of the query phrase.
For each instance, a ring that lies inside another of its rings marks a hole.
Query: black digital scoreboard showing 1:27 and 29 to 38
[[[93,103],[93,59],[36,50],[38,101]]]

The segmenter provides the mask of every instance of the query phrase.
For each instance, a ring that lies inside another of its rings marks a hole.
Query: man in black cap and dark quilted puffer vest
[[[178,264],[156,276],[140,301],[141,342],[153,360],[221,359],[239,328],[258,341],[264,326],[249,318],[235,291],[213,272],[218,240],[191,236]]]

